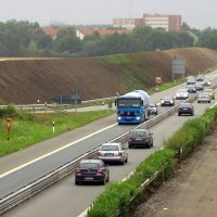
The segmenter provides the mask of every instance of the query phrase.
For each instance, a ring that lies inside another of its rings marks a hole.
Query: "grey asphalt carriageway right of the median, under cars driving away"
[[[213,104],[214,102],[212,102]],[[204,112],[205,108],[209,107],[210,104],[197,104],[193,103],[196,107],[195,116]],[[171,115],[169,118],[164,119],[156,126],[150,128],[154,137],[154,146],[152,149],[130,149],[129,162],[122,165],[111,165],[111,181],[119,181],[124,179],[128,174],[130,174],[137,165],[148,157],[151,153],[158,150],[163,142],[168,139],[175,131],[177,131],[182,124],[194,118],[192,116],[178,116],[177,113]],[[166,128],[166,126],[168,126]],[[107,184],[106,184],[107,186]],[[106,187],[105,186],[105,187]],[[55,186],[49,188],[48,190],[41,192],[31,200],[21,204],[18,207],[10,210],[9,213],[2,215],[7,217],[23,217],[23,216],[78,216],[82,213],[94,199],[104,191],[103,186],[75,186],[74,175],[64,179],[63,181],[56,183]],[[43,204],[41,208],[41,204]],[[55,207],[61,208],[55,208]],[[40,208],[39,208],[40,207]]]

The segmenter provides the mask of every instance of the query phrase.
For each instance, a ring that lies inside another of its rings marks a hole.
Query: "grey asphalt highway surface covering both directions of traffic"
[[[159,101],[161,97],[165,94],[175,94],[176,89],[180,87],[176,87],[175,89],[167,90],[165,92],[156,93],[152,95],[152,100]],[[212,104],[214,101],[212,102]],[[201,115],[205,108],[209,107],[210,104],[197,104],[194,103],[195,107],[195,116]],[[166,107],[164,107],[165,110]],[[133,149],[128,150],[129,152],[129,163],[124,166],[120,165],[112,165],[110,166],[111,170],[111,181],[119,181],[125,178],[129,173],[131,173],[136,166],[151,153],[159,149],[163,144],[163,141],[170,137],[174,131],[176,131],[187,119],[192,118],[191,116],[181,116],[178,117],[175,113],[170,117],[161,122],[156,126],[152,127],[150,130],[153,132],[154,137],[154,148],[151,150],[141,150]],[[99,122],[100,123],[100,122]],[[4,161],[4,164],[1,164],[0,161],[0,195],[3,196],[11,191],[17,190],[22,184],[27,184],[29,181],[37,179],[40,176],[43,176],[49,170],[53,170],[59,166],[72,161],[80,154],[84,154],[86,151],[90,149],[99,146],[101,143],[122,135],[125,131],[128,131],[135,126],[118,126],[115,124],[115,116],[107,117],[103,122],[104,130],[99,128],[98,124],[90,125],[90,129],[88,133],[85,133],[84,129],[78,129],[80,131],[74,130],[73,132],[67,132],[61,137],[55,139],[51,139],[41,142],[39,149],[41,146],[46,146],[47,151],[44,153],[36,154],[36,150],[33,148],[33,154],[29,154],[30,151],[22,151],[20,152],[21,162],[16,164],[20,166],[18,169],[13,170],[13,173],[7,173],[14,168],[13,163],[12,166],[8,167]],[[110,127],[108,127],[110,126]],[[101,126],[102,127],[102,126]],[[101,130],[100,130],[101,129]],[[91,131],[92,130],[92,131]],[[95,132],[99,131],[99,132]],[[74,135],[75,137],[72,137]],[[85,135],[85,136],[84,136]],[[76,142],[79,138],[88,137],[84,140]],[[77,138],[76,138],[77,137]],[[54,143],[54,145],[53,145]],[[48,146],[52,146],[51,150]],[[59,150],[61,146],[65,145],[65,149]],[[59,146],[59,148],[58,148]],[[37,149],[37,148],[35,148]],[[55,151],[55,150],[59,151]],[[51,154],[50,154],[51,152]],[[28,154],[26,154],[28,153]],[[31,156],[30,156],[31,155]],[[46,156],[44,156],[46,155]],[[33,157],[35,156],[35,157]],[[44,156],[44,157],[42,157]],[[13,158],[11,155],[10,157]],[[9,158],[9,157],[8,157]],[[12,159],[11,158],[11,159]],[[28,164],[29,158],[31,158],[31,164]],[[35,159],[34,159],[35,158]],[[15,157],[13,159],[16,159]],[[37,161],[38,159],[38,161]],[[13,161],[15,162],[15,161]],[[4,166],[2,166],[4,165]],[[24,166],[22,166],[24,165]],[[31,200],[25,202],[24,204],[13,208],[12,210],[5,213],[2,216],[79,216],[95,199],[99,193],[104,190],[103,186],[75,186],[74,184],[74,176],[69,176],[68,178],[60,181],[55,186],[47,189],[40,194],[36,195]]]

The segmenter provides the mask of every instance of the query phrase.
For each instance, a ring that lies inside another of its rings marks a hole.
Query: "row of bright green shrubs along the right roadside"
[[[166,176],[174,174],[177,157],[187,157],[203,143],[204,138],[214,129],[217,120],[217,108],[210,108],[190,119],[164,142],[164,149],[151,154],[139,164],[135,173],[124,182],[112,182],[100,194],[88,210],[88,217],[126,216],[129,204],[140,187],[156,171],[165,167]],[[166,177],[166,178],[167,178]]]

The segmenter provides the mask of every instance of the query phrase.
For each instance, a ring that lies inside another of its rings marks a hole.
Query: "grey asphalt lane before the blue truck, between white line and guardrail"
[[[124,132],[129,131],[135,125],[115,125],[104,131],[92,135],[82,141],[75,142],[66,149],[52,154],[50,153],[51,155],[40,158],[40,161],[33,162],[33,164],[2,177],[0,179],[0,197],[17,191],[21,187],[27,186],[50,171],[55,170],[60,165],[65,165],[86,152],[98,148],[103,142],[107,142]]]

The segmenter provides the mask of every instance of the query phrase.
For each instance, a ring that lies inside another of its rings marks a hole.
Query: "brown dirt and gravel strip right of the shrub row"
[[[217,129],[174,178],[164,183],[133,217],[213,217],[217,215]]]

